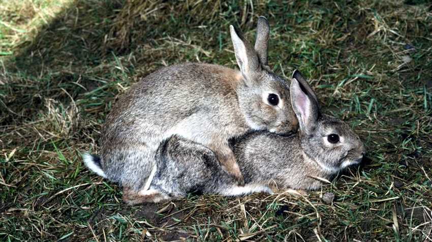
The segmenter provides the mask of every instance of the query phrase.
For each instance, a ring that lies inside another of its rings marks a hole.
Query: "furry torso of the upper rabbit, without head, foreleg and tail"
[[[101,142],[106,176],[139,190],[147,187],[156,151],[167,137],[208,144],[246,132],[235,90],[240,78],[227,67],[187,63],[135,84],[107,116]]]

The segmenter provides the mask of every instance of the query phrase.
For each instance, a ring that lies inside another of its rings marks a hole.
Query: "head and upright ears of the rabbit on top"
[[[238,103],[248,125],[255,130],[288,134],[296,130],[297,118],[290,103],[289,84],[270,71],[267,64],[269,26],[258,19],[255,48],[230,26],[235,57],[242,75]]]

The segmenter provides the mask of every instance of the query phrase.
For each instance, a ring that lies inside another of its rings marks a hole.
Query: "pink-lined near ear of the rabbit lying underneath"
[[[297,116],[300,131],[306,135],[312,134],[318,123],[318,103],[311,93],[295,78],[290,86],[291,105]]]

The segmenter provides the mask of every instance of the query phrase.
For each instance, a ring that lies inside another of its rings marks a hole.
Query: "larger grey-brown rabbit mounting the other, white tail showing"
[[[211,150],[238,185],[244,180],[229,140],[253,130],[295,132],[289,82],[267,63],[269,25],[259,17],[255,47],[230,25],[240,71],[204,63],[162,68],[122,95],[107,115],[100,158],[84,154],[87,167],[120,184],[129,204],[147,194],[159,168],[162,141],[177,135]]]

